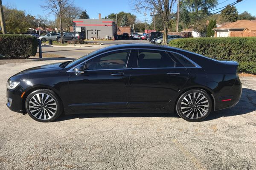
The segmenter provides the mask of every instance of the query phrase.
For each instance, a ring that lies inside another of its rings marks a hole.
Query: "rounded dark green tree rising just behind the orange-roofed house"
[[[235,6],[228,5],[226,8],[224,8],[223,11],[221,11],[221,21],[223,23],[225,22],[236,22],[238,19],[238,11]]]

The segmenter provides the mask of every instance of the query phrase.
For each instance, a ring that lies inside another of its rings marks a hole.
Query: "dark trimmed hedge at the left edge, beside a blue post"
[[[37,46],[37,38],[30,35],[0,35],[0,54],[6,59],[26,59],[30,56],[35,56]]]

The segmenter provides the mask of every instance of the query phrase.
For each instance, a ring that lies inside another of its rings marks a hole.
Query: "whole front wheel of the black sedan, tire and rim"
[[[63,112],[61,100],[48,89],[30,93],[26,98],[25,108],[29,116],[38,122],[52,122]]]

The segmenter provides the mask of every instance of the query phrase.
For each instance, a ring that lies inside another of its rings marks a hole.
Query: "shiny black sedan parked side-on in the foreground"
[[[175,113],[201,121],[239,102],[238,63],[169,46],[114,45],[7,81],[7,106],[51,122],[61,113]]]

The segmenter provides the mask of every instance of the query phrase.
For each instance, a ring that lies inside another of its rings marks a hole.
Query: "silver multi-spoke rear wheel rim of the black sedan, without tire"
[[[180,109],[187,118],[198,119],[209,111],[209,101],[204,94],[193,92],[182,99]]]

